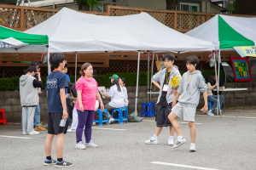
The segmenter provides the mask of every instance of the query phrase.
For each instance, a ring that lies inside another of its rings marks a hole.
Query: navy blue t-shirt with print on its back
[[[48,91],[48,112],[62,112],[60,89],[67,88],[67,76],[61,71],[52,71],[46,78],[45,89]]]

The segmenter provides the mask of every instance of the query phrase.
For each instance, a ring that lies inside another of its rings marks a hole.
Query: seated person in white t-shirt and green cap
[[[109,113],[111,113],[113,109],[124,107],[125,100],[123,88],[119,85],[119,76],[114,74],[112,77],[109,78],[111,79],[112,85],[108,91],[108,94],[102,93],[102,96],[106,98],[111,98],[111,101],[107,105],[104,105],[104,108],[108,110],[109,123],[112,123],[114,122],[114,119],[113,116],[111,116]],[[106,112],[103,112],[102,114],[103,116],[107,117]]]

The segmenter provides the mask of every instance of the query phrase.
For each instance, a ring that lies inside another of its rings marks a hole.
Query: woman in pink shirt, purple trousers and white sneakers
[[[98,92],[98,84],[92,77],[92,65],[90,63],[84,63],[79,73],[82,77],[76,82],[78,101],[75,108],[78,110],[79,124],[76,130],[77,144],[75,148],[84,150],[86,146],[97,147],[97,145],[93,144],[91,141],[91,126],[95,115],[96,99],[99,101],[102,111],[104,110],[104,105],[102,104],[102,98]],[[85,146],[82,140],[84,125]]]

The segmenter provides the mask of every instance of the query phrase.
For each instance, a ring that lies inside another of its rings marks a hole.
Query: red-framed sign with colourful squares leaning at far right
[[[230,57],[230,60],[236,82],[252,82],[248,59]]]

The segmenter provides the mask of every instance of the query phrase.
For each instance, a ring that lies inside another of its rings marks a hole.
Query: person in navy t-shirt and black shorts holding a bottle
[[[44,147],[46,160],[44,165],[55,165],[55,167],[72,167],[73,163],[63,160],[64,133],[67,133],[68,114],[66,104],[65,89],[67,77],[61,72],[66,64],[65,55],[51,54],[49,64],[55,69],[46,78],[45,89],[47,90],[48,104],[48,135],[45,139]],[[51,158],[51,145],[56,135],[56,153],[57,161]]]

